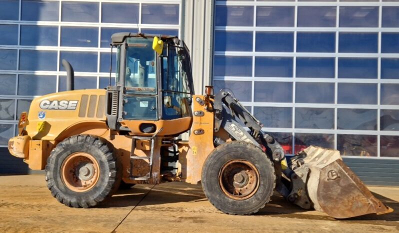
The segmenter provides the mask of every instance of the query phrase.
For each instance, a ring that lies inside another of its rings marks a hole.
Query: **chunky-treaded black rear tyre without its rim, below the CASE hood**
[[[98,181],[87,191],[72,191],[61,179],[61,164],[74,152],[89,153],[98,162]],[[121,169],[112,153],[112,146],[107,141],[91,135],[74,135],[59,142],[51,151],[45,166],[48,189],[59,202],[69,207],[87,208],[97,205],[117,190],[120,179]]]

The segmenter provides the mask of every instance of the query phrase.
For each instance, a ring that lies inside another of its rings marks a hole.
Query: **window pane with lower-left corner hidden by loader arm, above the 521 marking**
[[[291,128],[291,107],[253,107],[253,115],[267,128]]]

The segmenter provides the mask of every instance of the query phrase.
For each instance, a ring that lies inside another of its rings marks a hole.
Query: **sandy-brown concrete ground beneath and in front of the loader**
[[[4,232],[399,232],[399,187],[369,189],[395,211],[336,220],[306,211],[280,196],[257,214],[217,211],[200,185],[179,182],[135,185],[98,207],[57,202],[43,175],[0,176],[0,231]]]

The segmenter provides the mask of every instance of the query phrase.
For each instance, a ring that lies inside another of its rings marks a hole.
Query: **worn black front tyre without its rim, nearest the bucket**
[[[259,187],[247,199],[235,200],[223,193],[218,175],[223,164],[243,159],[259,172]],[[274,167],[267,155],[255,145],[244,141],[230,141],[217,146],[206,158],[201,174],[203,191],[209,202],[227,214],[248,215],[263,208],[270,200],[275,186]]]

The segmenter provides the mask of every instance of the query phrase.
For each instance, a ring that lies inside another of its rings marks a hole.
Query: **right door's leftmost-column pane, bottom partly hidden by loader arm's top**
[[[252,83],[250,81],[213,81],[215,93],[222,88],[228,88],[227,91],[240,101],[251,101]]]

